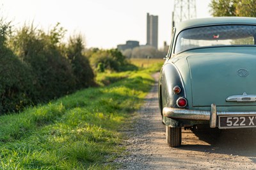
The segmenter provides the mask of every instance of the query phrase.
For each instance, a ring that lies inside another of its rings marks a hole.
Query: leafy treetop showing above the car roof
[[[256,17],[255,0],[212,0],[209,7],[213,17]]]

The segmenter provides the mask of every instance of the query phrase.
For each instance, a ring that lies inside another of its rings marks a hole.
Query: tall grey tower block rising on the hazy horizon
[[[147,13],[147,45],[157,49],[158,42],[158,16]]]

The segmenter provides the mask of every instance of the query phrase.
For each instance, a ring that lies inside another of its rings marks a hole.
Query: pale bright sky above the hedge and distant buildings
[[[196,0],[196,16],[211,17],[211,0]],[[158,15],[158,46],[170,43],[174,0],[0,0],[0,14],[16,28],[48,31],[58,22],[67,37],[81,33],[86,47],[116,48],[127,40],[145,45],[147,13]]]

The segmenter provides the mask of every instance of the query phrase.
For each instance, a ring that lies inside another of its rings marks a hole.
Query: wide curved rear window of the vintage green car
[[[179,33],[174,52],[198,47],[255,45],[255,39],[256,26],[252,25],[194,27]]]

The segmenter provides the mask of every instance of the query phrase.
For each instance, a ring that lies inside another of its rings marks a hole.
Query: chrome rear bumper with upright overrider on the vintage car
[[[200,110],[188,110],[188,109],[178,109],[172,107],[164,107],[163,116],[172,119],[180,120],[205,120],[209,121],[210,127],[215,128],[217,125],[217,116],[228,116],[228,115],[254,115],[256,116],[256,111],[253,112],[218,112],[216,110],[216,105],[211,105],[211,111],[200,111]]]

